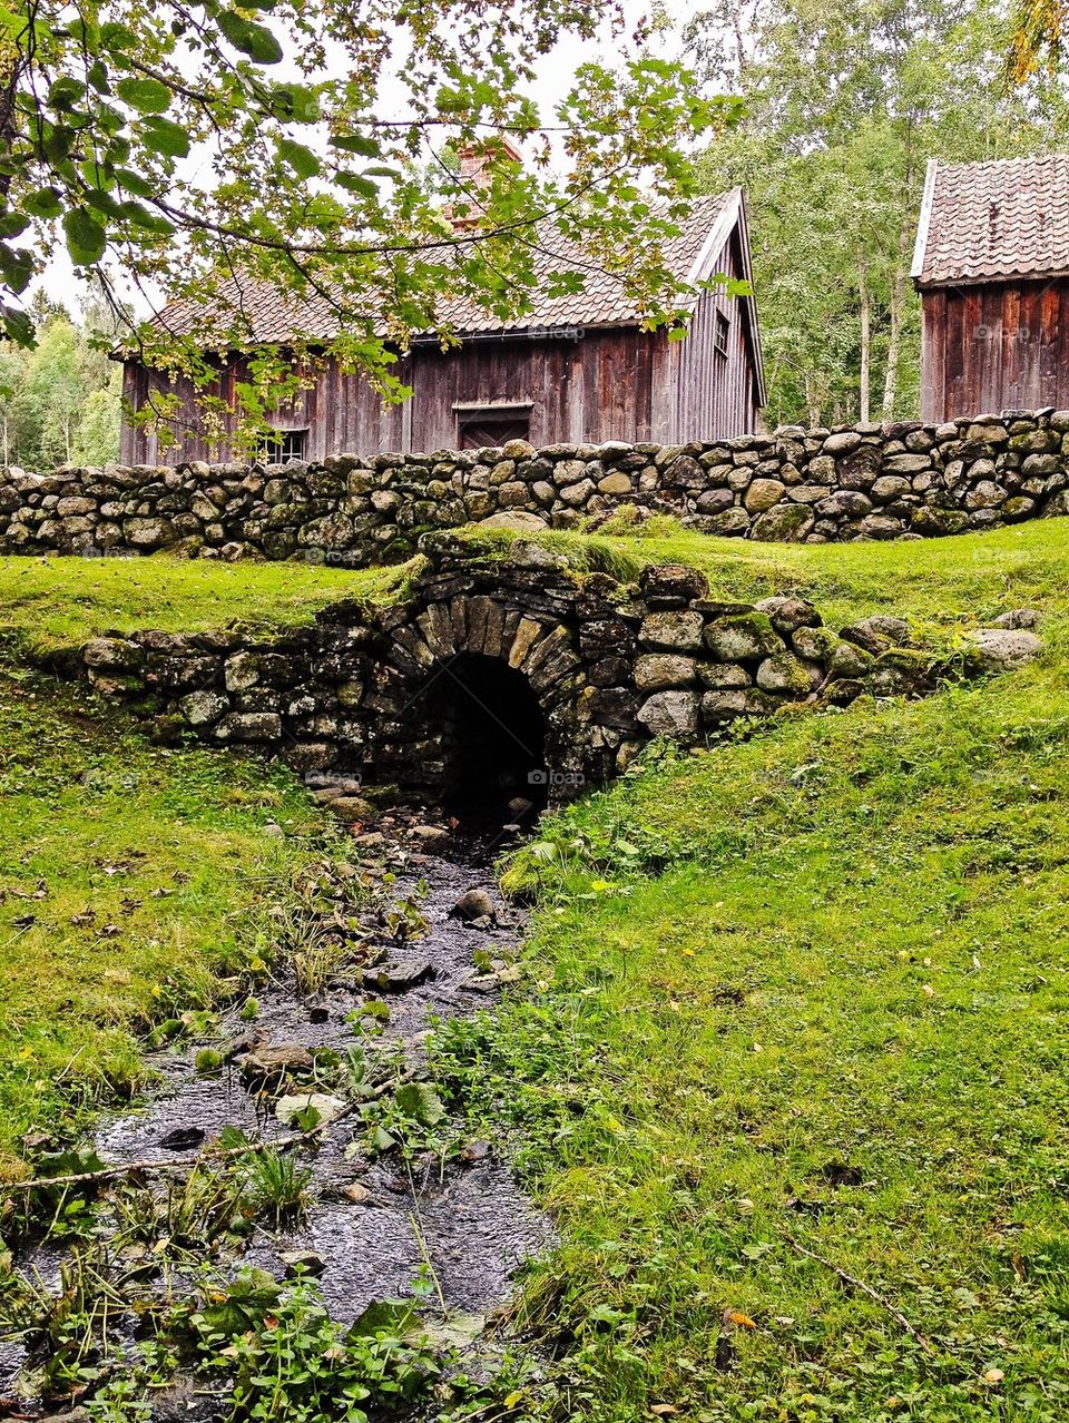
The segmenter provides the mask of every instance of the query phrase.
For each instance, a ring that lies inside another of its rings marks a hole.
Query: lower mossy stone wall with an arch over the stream
[[[497,555],[451,534],[423,546],[423,569],[399,603],[339,603],[270,639],[102,636],[78,665],[98,692],[141,707],[165,734],[258,747],[312,774],[434,791],[448,777],[450,746],[430,692],[461,657],[495,660],[538,700],[559,798],[605,781],[655,736],[702,746],[740,717],[789,703],[918,696],[1039,650],[1023,613],[947,659],[914,646],[898,618],[833,630],[799,598],[710,599],[705,576],[679,565],[619,583],[579,575],[522,539]]]

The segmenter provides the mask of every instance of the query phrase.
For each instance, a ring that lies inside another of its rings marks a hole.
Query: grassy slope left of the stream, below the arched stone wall
[[[167,751],[75,687],[0,675],[0,1180],[26,1131],[134,1090],[138,1035],[265,948],[313,827],[292,774]],[[269,821],[292,832],[265,831]]]

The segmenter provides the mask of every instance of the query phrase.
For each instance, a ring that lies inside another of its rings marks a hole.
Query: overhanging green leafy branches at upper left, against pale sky
[[[579,64],[545,124],[539,61],[599,30],[618,71]],[[128,287],[182,303],[128,324],[148,364],[211,388],[221,353],[252,353],[262,413],[295,380],[248,312],[266,283],[299,361],[335,359],[391,400],[414,333],[448,343],[457,300],[522,316],[534,253],[558,240],[670,324],[685,152],[730,105],[646,38],[625,43],[619,4],[576,0],[0,0],[1,330],[33,343],[26,293],[65,248],[117,313]],[[446,145],[484,147],[477,189],[438,162]]]

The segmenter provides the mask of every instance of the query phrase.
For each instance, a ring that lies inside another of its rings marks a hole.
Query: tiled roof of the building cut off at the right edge
[[[928,164],[918,286],[1069,273],[1069,154]]]

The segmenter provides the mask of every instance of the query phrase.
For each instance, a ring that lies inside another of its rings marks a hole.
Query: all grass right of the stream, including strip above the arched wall
[[[542,885],[528,990],[438,1063],[559,1224],[522,1416],[1063,1420],[1069,525],[651,545],[843,619],[1038,605],[1049,650],[653,756],[514,862]],[[726,1309],[756,1328],[717,1365]]]

